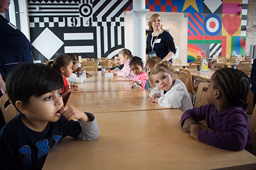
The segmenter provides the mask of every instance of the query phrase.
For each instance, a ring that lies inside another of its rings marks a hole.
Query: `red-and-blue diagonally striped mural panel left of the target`
[[[188,36],[203,35],[203,14],[188,13]]]

